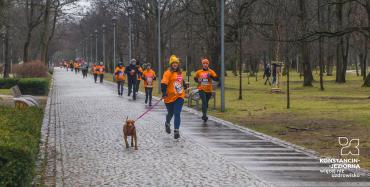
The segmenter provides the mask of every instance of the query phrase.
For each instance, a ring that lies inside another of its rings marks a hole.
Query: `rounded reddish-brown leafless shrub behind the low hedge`
[[[24,64],[18,64],[14,66],[13,72],[16,77],[20,78],[48,76],[48,68],[41,61],[31,61]]]

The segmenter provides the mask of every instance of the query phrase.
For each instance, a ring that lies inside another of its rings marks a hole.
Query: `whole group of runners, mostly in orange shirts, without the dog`
[[[174,138],[180,138],[180,124],[181,124],[181,111],[184,104],[185,97],[188,97],[186,91],[188,84],[185,83],[183,77],[183,71],[180,68],[180,59],[172,55],[169,58],[169,68],[164,72],[161,79],[162,98],[166,109],[167,115],[165,119],[165,131],[171,134],[171,120],[174,118]],[[79,65],[75,65],[79,64]],[[73,62],[65,63],[65,67],[71,68],[71,71],[75,69],[75,72],[79,72],[79,67],[85,68],[85,62]],[[207,58],[201,59],[202,68],[195,72],[194,81],[198,84],[197,91],[202,100],[202,120],[207,122],[207,110],[208,102],[212,96],[213,83],[212,81],[218,81],[217,74],[209,68],[210,61]],[[86,64],[87,65],[87,64]],[[88,69],[88,65],[87,65]],[[94,76],[95,83],[97,78],[100,78],[100,83],[103,83],[105,67],[102,62],[94,64],[91,72]],[[86,73],[87,76],[87,73]],[[84,75],[85,78],[85,75]],[[133,100],[136,100],[136,95],[139,90],[140,82],[143,80],[145,89],[145,104],[149,104],[152,107],[152,93],[154,88],[154,81],[156,81],[156,72],[152,69],[151,64],[146,63],[141,65],[136,59],[132,59],[128,66],[124,66],[122,62],[114,69],[114,80],[117,83],[118,96],[123,95],[123,87],[125,82],[128,83],[127,95],[130,97],[132,94]]]

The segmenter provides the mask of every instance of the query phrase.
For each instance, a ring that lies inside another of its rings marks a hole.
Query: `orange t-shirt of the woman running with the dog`
[[[161,83],[167,85],[165,103],[172,103],[178,98],[185,98],[182,72],[165,71]]]

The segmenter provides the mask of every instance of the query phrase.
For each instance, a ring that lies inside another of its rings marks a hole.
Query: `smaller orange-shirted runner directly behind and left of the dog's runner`
[[[153,82],[156,80],[155,72],[152,70],[151,64],[146,65],[146,69],[143,72],[142,79],[144,80],[144,88],[145,88],[145,104],[148,103],[149,99],[149,106],[152,106],[152,93],[153,93]]]

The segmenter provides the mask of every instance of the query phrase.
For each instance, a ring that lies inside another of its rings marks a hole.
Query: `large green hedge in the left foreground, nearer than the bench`
[[[0,106],[0,186],[31,186],[43,112]]]

